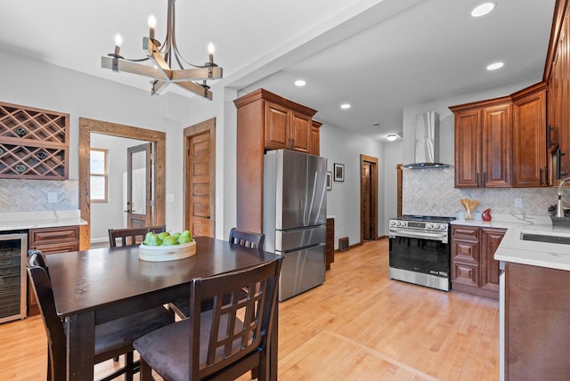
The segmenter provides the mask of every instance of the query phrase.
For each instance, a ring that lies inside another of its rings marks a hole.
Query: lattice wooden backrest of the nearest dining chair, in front
[[[281,260],[192,281],[191,379],[211,377],[230,368],[235,374],[246,372],[251,365],[251,361],[246,360],[260,356],[262,349],[268,348]],[[200,305],[205,299],[214,300],[212,317],[206,322],[202,317],[200,322]],[[208,324],[208,327],[200,327],[200,324]],[[210,333],[207,353],[202,356],[199,353],[200,329]],[[200,361],[200,357],[205,361]]]

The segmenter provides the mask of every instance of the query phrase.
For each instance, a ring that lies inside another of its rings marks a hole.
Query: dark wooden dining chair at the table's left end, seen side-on
[[[67,373],[67,337],[63,321],[57,315],[52,282],[44,254],[39,250],[28,252],[28,276],[37,297],[39,310],[47,334],[47,380],[65,380]],[[173,323],[173,315],[164,307],[138,312],[125,318],[111,320],[95,327],[94,364],[126,354],[126,364],[102,381],[125,375],[133,380],[139,370],[139,361],[133,358],[134,339]]]

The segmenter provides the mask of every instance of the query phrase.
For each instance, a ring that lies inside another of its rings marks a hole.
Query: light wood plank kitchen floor
[[[322,286],[280,304],[279,380],[498,379],[498,302],[388,280],[387,243],[337,253]],[[45,379],[45,361],[41,320],[0,325],[1,380]]]

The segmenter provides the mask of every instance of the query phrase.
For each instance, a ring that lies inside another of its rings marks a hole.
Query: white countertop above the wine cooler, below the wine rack
[[[0,231],[86,225],[79,210],[0,213]]]

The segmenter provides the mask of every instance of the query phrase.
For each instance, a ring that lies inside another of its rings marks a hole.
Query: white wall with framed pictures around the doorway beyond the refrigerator
[[[379,159],[379,235],[384,235],[384,146],[381,142],[352,134],[337,126],[321,126],[321,156],[328,158],[327,170],[334,163],[345,165],[345,181],[332,182],[327,192],[327,215],[335,217],[335,247],[348,237],[350,245],[360,242],[360,155]]]

